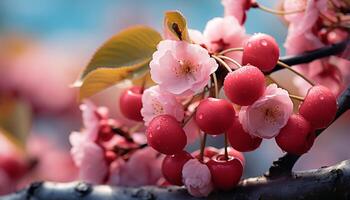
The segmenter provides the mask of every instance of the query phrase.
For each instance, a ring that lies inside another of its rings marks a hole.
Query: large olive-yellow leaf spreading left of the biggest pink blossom
[[[146,61],[152,58],[152,54],[156,51],[157,44],[161,40],[162,37],[156,30],[146,26],[125,29],[96,51],[83,71],[80,80],[98,68],[138,66],[137,68],[146,68],[143,71],[147,71],[148,62]]]

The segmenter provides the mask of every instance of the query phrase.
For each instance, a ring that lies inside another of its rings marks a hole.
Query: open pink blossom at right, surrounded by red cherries
[[[277,136],[292,113],[293,103],[288,92],[270,84],[262,97],[241,108],[239,121],[249,134],[268,139]]]

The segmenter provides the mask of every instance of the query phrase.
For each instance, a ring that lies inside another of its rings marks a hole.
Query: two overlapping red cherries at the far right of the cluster
[[[315,130],[327,127],[337,112],[337,101],[326,87],[309,89],[299,114],[293,114],[276,137],[278,146],[292,154],[301,155],[309,151],[315,140]]]

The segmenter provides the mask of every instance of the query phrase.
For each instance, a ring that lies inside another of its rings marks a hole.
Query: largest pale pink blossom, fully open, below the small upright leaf
[[[150,63],[151,77],[162,90],[175,95],[200,91],[218,67],[208,51],[197,44],[163,40],[157,49]]]

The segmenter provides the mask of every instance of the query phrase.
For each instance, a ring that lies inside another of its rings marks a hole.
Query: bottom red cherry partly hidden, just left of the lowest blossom
[[[192,158],[191,154],[186,151],[165,156],[162,163],[162,173],[165,180],[173,185],[183,185],[182,168],[184,164]]]

